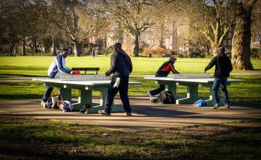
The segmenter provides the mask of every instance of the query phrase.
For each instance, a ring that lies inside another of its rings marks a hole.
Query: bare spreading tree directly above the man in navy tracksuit
[[[156,7],[158,1],[152,0],[103,0],[106,8],[119,23],[125,33],[133,38],[133,56],[139,56],[139,37],[156,21]]]

